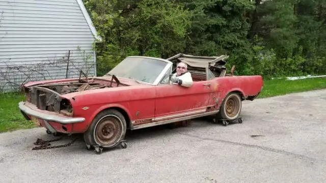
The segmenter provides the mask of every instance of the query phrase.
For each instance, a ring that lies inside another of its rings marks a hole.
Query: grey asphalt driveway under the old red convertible
[[[325,109],[326,90],[246,101],[242,124],[133,131],[101,155],[82,140],[31,150],[55,138],[42,128],[3,133],[0,182],[326,182]]]

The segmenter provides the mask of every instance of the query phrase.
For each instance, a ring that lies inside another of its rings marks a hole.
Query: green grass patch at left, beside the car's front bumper
[[[26,120],[18,108],[23,101],[21,94],[0,94],[0,133],[35,127],[31,120]]]

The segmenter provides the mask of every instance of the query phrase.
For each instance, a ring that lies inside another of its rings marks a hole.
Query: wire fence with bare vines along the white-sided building
[[[16,60],[0,59],[1,93],[21,92],[22,85],[30,81],[78,78],[81,72],[88,77],[96,74],[94,53],[79,48],[67,50],[63,56],[53,56],[41,61]]]

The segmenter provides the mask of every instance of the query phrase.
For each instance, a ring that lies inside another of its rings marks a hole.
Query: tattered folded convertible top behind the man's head
[[[224,59],[227,59],[228,55],[221,56],[193,56],[179,53],[175,56],[168,58],[168,60],[177,59],[179,62],[184,62],[190,67],[194,68],[209,68],[211,66],[224,66],[226,64]]]

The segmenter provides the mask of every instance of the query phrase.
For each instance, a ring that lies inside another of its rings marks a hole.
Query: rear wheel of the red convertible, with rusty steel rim
[[[220,108],[220,117],[227,120],[233,120],[239,117],[242,100],[236,93],[229,94],[223,101]]]

